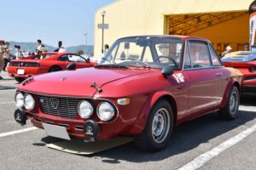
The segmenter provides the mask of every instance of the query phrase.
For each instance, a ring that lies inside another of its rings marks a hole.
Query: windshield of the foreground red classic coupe
[[[173,37],[129,37],[113,43],[100,65],[180,68],[183,43]]]

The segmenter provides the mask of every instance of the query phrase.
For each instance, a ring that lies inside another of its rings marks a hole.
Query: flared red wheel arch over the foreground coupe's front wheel
[[[137,116],[137,122],[134,124],[133,128],[131,129],[131,134],[139,134],[142,133],[146,123],[148,121],[148,116],[150,114],[151,109],[154,107],[156,102],[160,101],[161,99],[166,99],[166,101],[172,106],[173,118],[174,118],[174,125],[177,122],[177,104],[175,99],[173,98],[172,94],[168,92],[157,92],[148,97],[143,105],[143,109],[140,114]]]

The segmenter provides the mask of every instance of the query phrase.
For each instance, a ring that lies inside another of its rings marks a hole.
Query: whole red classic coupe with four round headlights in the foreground
[[[49,136],[93,142],[132,136],[160,150],[173,127],[212,111],[238,115],[242,74],[225,68],[212,44],[197,37],[124,37],[96,67],[22,82],[15,121],[27,118]]]

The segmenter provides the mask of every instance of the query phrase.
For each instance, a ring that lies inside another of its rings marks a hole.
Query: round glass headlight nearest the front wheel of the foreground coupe
[[[114,116],[114,109],[113,105],[109,104],[108,102],[102,102],[98,105],[97,115],[102,121],[109,121]]]

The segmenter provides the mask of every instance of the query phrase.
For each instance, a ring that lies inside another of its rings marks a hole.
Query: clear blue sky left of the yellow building
[[[93,44],[96,10],[114,0],[0,0],[0,39],[57,46]]]

